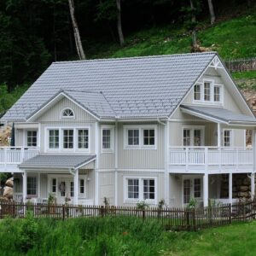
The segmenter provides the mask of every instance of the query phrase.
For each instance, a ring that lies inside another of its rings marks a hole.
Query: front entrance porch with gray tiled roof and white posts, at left
[[[96,155],[38,154],[20,164],[14,176],[14,200],[58,204],[94,204]]]

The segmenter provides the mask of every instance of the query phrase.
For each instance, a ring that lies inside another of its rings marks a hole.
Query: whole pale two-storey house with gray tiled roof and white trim
[[[1,122],[16,201],[207,206],[238,173],[254,195],[256,119],[215,52],[55,62]]]

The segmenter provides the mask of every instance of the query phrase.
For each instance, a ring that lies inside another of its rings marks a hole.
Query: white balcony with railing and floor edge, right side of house
[[[170,173],[253,172],[252,148],[170,147]]]

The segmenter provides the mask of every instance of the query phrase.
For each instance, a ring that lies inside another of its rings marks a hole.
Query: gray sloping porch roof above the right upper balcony
[[[256,125],[255,117],[242,113],[234,113],[225,108],[205,106],[192,107],[186,105],[181,105],[180,108],[184,113],[189,113],[202,119],[208,119],[217,123],[223,123],[226,125]]]

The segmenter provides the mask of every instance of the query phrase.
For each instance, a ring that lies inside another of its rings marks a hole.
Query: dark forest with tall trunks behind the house
[[[12,97],[20,96],[52,61],[113,56],[119,49],[131,49],[137,40],[149,42],[148,29],[164,29],[167,41],[178,31],[188,35],[195,46],[202,27],[215,26],[253,8],[253,0],[3,0],[0,113],[14,102],[5,95],[14,92]],[[255,26],[255,20],[251,21]],[[131,39],[138,32],[141,38]],[[185,51],[191,50],[193,47]],[[163,53],[159,49],[124,55]]]

